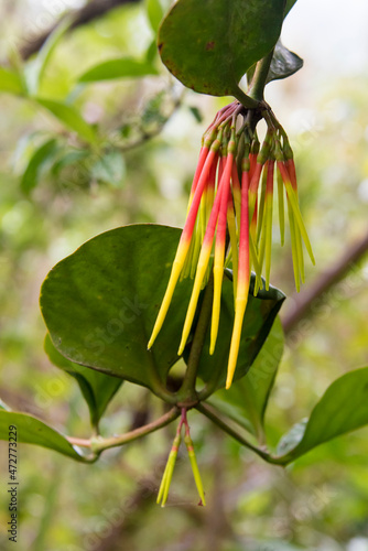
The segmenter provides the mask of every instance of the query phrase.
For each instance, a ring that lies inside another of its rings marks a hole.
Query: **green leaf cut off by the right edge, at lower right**
[[[368,367],[343,375],[327,388],[307,422],[280,441],[278,457],[288,464],[313,447],[368,424]],[[303,430],[304,429],[304,430]],[[293,447],[291,447],[293,446]]]

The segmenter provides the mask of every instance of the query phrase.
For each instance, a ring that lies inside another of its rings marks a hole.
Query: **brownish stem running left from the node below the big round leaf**
[[[160,417],[155,421],[152,421],[152,423],[144,424],[143,426],[140,426],[134,431],[126,432],[126,434],[121,434],[119,436],[111,436],[109,439],[97,436],[91,437],[90,440],[75,439],[73,436],[69,436],[67,440],[73,445],[89,447],[94,453],[99,454],[104,452],[104,450],[121,446],[123,444],[127,444],[128,442],[132,442],[133,440],[145,436],[147,434],[150,434],[158,429],[162,429],[166,424],[174,421],[174,419],[178,418],[180,414],[181,410],[174,407],[164,415]]]

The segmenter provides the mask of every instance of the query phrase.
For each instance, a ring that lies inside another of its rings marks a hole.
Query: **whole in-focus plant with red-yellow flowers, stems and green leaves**
[[[368,423],[364,368],[333,382],[307,422],[286,433],[277,451],[264,434],[264,412],[283,348],[278,313],[285,295],[270,278],[274,220],[283,245],[285,205],[297,291],[305,279],[304,248],[314,263],[292,148],[263,97],[270,80],[286,78],[303,64],[279,40],[295,1],[178,0],[163,19],[158,50],[173,75],[197,93],[235,99],[204,133],[183,230],[149,224],[107,231],[58,262],[42,285],[45,350],[78,381],[89,408],[91,436],[64,436],[0,403],[2,440],[8,439],[6,428],[17,425],[22,429],[20,442],[91,463],[105,450],[180,418],[158,503],[164,506],[167,500],[184,428],[199,504],[205,505],[190,410],[277,465]],[[155,73],[145,65],[128,63],[129,71]],[[104,78],[111,67],[115,77],[117,65],[109,62],[85,73],[82,80],[96,73]],[[239,85],[243,76],[247,91]],[[95,130],[73,109],[36,100],[94,143]],[[266,123],[263,136],[260,121]],[[43,153],[54,145],[44,144]],[[32,185],[29,179],[26,185]],[[173,378],[172,368],[180,363],[184,372]],[[105,437],[99,421],[122,382],[149,389],[163,402],[164,412]]]

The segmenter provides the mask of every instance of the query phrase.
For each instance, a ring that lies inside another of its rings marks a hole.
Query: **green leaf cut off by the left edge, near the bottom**
[[[17,441],[23,444],[36,444],[39,446],[55,450],[55,452],[73,457],[73,460],[89,462],[78,452],[63,434],[55,431],[40,419],[26,413],[0,410],[0,440],[9,440],[9,428],[17,428]]]

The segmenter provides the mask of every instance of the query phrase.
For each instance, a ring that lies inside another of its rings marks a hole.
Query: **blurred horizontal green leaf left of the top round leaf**
[[[78,83],[96,83],[113,78],[136,78],[156,74],[156,69],[145,61],[141,62],[131,57],[119,57],[90,67],[78,77]]]

